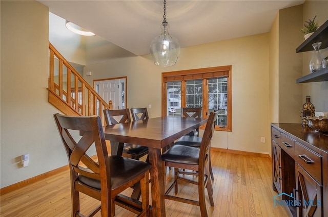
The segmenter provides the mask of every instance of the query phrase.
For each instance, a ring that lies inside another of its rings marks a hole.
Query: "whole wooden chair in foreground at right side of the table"
[[[201,140],[200,148],[174,144],[174,146],[172,146],[168,151],[161,155],[163,169],[165,169],[165,166],[174,167],[174,182],[165,192],[165,199],[200,206],[200,213],[202,217],[208,216],[206,211],[205,188],[207,188],[208,191],[210,204],[211,206],[214,206],[213,187],[211,181],[208,179],[210,172],[208,161],[210,143],[214,133],[214,119],[216,119],[216,117],[216,112],[210,113]],[[179,169],[198,171],[198,181],[180,176],[178,172]],[[169,195],[173,187],[175,189],[175,195],[178,194],[178,180],[184,180],[189,183],[196,184],[198,186],[199,201],[192,200],[190,198],[182,198]]]

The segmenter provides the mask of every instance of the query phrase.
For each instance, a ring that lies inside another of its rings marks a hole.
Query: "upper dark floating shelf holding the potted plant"
[[[323,23],[317,31],[315,31],[308,39],[303,41],[296,49],[296,53],[305,51],[314,51],[312,44],[321,42],[320,49],[328,47],[328,20]]]

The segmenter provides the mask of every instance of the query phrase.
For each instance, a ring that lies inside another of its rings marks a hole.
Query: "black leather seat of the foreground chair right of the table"
[[[175,144],[168,151],[162,154],[162,160],[172,163],[198,165],[199,149]]]

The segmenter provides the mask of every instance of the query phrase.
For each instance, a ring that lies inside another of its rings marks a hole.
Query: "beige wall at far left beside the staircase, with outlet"
[[[48,8],[1,4],[1,187],[67,164],[48,103]],[[29,166],[20,156],[29,154]]]

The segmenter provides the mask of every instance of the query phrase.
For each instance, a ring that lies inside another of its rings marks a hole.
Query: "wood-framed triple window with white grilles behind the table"
[[[215,130],[231,131],[232,66],[162,73],[162,116],[180,116],[181,107],[218,111]]]

